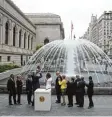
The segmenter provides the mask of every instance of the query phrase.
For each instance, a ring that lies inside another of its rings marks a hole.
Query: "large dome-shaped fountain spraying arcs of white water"
[[[50,72],[53,78],[55,72],[60,71],[67,76],[84,76],[85,80],[91,75],[94,82],[102,86],[112,81],[112,61],[97,45],[85,39],[56,40],[44,45],[22,72],[35,71],[37,65],[43,74]]]

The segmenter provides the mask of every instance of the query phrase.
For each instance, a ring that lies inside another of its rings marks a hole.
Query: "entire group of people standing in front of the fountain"
[[[78,107],[84,106],[84,94],[85,86],[87,87],[87,94],[89,98],[89,107],[94,106],[92,96],[94,83],[92,77],[89,77],[89,83],[84,81],[84,77],[76,75],[76,77],[67,78],[65,75],[61,75],[59,71],[56,72],[55,90],[57,95],[56,103],[61,103],[62,106],[66,105],[65,95],[68,96],[68,107],[73,106],[73,95],[76,97],[76,103]],[[39,79],[42,78],[42,73],[40,67],[37,66],[36,72],[29,74],[26,80],[26,93],[28,104],[34,106],[34,92],[36,89],[40,88]],[[45,78],[46,89],[52,88],[52,77],[50,73],[46,74]],[[21,76],[17,76],[15,83],[14,75],[11,74],[7,82],[7,89],[9,92],[9,105],[12,104],[12,97],[14,104],[21,104],[21,94],[22,94],[23,83]],[[17,100],[16,100],[17,95]],[[33,100],[32,100],[33,96]],[[62,100],[61,100],[62,97]]]

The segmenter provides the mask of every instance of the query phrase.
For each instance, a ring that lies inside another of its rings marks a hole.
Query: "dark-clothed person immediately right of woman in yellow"
[[[73,78],[67,82],[68,107],[73,106],[74,82]]]

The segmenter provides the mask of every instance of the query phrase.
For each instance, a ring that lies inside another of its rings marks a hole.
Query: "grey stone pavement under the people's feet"
[[[8,105],[8,95],[0,94],[0,116],[112,116],[112,96],[98,95],[94,96],[95,107],[87,109],[88,98],[85,96],[84,108],[63,107],[55,104],[56,96],[52,96],[52,109],[50,112],[35,112],[32,106],[27,105],[26,95],[22,96],[22,105]],[[66,98],[67,100],[67,98]]]

